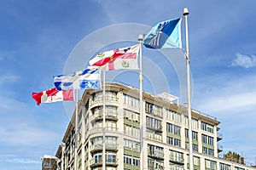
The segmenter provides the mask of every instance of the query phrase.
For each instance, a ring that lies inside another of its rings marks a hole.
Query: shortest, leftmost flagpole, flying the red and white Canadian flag
[[[79,89],[76,90],[76,112],[75,112],[75,148],[74,148],[74,170],[78,169],[78,116],[79,116]]]

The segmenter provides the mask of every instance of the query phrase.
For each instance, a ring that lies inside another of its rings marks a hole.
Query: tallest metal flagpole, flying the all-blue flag
[[[189,9],[183,8],[183,15],[185,17],[186,30],[186,65],[187,65],[187,87],[188,87],[188,115],[189,115],[189,169],[193,166],[193,149],[192,149],[192,124],[191,124],[191,93],[190,93],[190,69],[189,69],[189,29],[188,29],[188,15]]]

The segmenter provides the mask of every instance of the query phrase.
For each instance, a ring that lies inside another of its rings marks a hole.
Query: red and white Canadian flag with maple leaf
[[[32,98],[38,105],[41,103],[52,103],[63,100],[74,100],[73,89],[58,91],[56,88],[45,90],[44,92],[32,93]]]

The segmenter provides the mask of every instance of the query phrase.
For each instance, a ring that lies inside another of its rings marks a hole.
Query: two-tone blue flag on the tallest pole
[[[166,20],[158,23],[146,35],[143,44],[146,48],[182,48],[181,20]]]

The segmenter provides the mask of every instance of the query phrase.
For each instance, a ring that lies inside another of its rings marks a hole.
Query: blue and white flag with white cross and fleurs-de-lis
[[[86,69],[77,71],[72,75],[60,75],[54,77],[55,88],[67,89],[99,89],[101,88],[101,75],[99,70]]]

